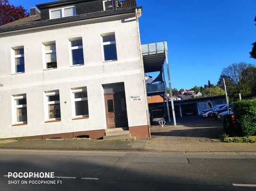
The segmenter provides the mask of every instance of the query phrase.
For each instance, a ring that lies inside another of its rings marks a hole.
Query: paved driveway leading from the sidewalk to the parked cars
[[[189,116],[177,118],[177,127],[167,125],[162,128],[160,125],[151,127],[152,139],[199,139],[207,141],[209,139],[220,138],[223,133],[221,121],[213,118],[202,118],[199,116]]]

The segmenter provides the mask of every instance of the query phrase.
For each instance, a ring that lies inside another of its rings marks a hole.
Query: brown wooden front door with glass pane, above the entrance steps
[[[116,128],[114,94],[113,93],[107,93],[104,96],[105,96],[107,129]]]

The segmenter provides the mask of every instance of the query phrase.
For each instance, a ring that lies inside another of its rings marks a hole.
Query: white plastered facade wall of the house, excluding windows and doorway
[[[129,21],[129,22],[128,22]],[[103,62],[101,34],[115,32],[118,61]],[[83,38],[85,64],[70,67],[69,39]],[[44,42],[56,41],[58,69],[43,70]],[[25,73],[11,74],[11,49],[24,46]],[[0,138],[106,129],[102,84],[124,82],[129,127],[148,125],[134,18],[0,38]],[[87,87],[89,119],[72,120],[71,88]],[[43,92],[59,90],[61,122],[45,123]],[[27,125],[12,126],[12,95],[26,93]],[[129,96],[141,95],[140,102]],[[65,103],[66,102],[66,103]]]

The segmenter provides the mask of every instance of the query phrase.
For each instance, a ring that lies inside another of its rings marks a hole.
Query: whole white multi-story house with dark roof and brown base
[[[112,128],[149,138],[142,8],[135,0],[36,6],[0,26],[0,138],[96,139]]]

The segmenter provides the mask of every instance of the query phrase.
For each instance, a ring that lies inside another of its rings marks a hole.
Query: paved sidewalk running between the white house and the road
[[[0,149],[256,154],[255,143],[201,142],[200,139],[143,139],[136,141],[20,140],[6,144],[0,141]]]

